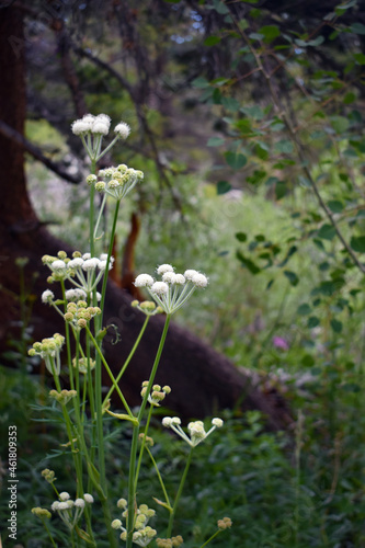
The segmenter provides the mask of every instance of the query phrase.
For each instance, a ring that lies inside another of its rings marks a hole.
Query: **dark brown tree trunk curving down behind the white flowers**
[[[1,119],[23,133],[25,119],[25,60],[22,43],[22,18],[13,7],[1,10],[0,19],[0,107]],[[16,49],[12,41],[16,38]],[[19,319],[19,269],[14,262],[26,256],[26,281],[31,284],[39,273],[32,289],[37,296],[47,288],[47,267],[42,265],[43,254],[56,254],[67,246],[52,237],[38,222],[26,192],[23,150],[15,141],[0,135],[0,246],[1,246],[1,300],[0,350],[5,349],[11,334],[11,324]],[[54,289],[54,288],[53,288]],[[56,293],[56,289],[55,289]],[[104,310],[105,324],[117,326],[122,341],[113,344],[111,336],[104,339],[105,356],[116,374],[128,355],[140,330],[144,316],[130,307],[130,297],[109,284]],[[32,317],[34,339],[62,332],[62,319],[48,306],[34,306]],[[122,387],[130,406],[140,402],[141,383],[149,377],[162,331],[163,318],[150,319],[140,346],[122,379]],[[106,380],[106,379],[105,379]],[[250,378],[236,368],[226,357],[208,347],[184,329],[172,324],[166,342],[157,383],[170,385],[171,395],[167,404],[172,412],[185,418],[212,414],[218,409],[259,409],[263,411],[272,427],[283,427],[289,420],[285,406],[276,396],[264,393],[252,386]]]

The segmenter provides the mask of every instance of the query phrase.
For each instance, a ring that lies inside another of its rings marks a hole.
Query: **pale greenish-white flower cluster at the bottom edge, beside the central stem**
[[[125,499],[119,499],[117,502],[118,509],[123,509],[122,517],[128,517],[127,510],[127,501]],[[133,541],[138,546],[148,546],[152,538],[156,537],[157,530],[152,529],[148,524],[149,520],[153,517],[156,514],[155,510],[149,509],[147,504],[140,504],[136,510],[135,520],[134,520],[134,528],[136,529],[133,534]],[[121,520],[113,520],[112,522],[113,529],[121,529],[121,539],[127,539],[127,529],[123,526]]]

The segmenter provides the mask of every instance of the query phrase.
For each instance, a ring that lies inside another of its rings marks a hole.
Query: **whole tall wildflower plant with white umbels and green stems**
[[[128,168],[126,164],[106,168],[98,173],[98,161],[119,139],[126,139],[129,135],[129,126],[121,122],[114,129],[114,139],[103,148],[103,139],[107,137],[110,126],[111,119],[104,114],[98,116],[87,114],[83,118],[73,122],[71,126],[72,133],[81,138],[85,153],[91,161],[91,173],[87,176],[87,184],[90,187],[89,250],[75,251],[71,256],[68,256],[65,251],[59,251],[56,256],[43,256],[44,265],[50,271],[48,283],[52,284],[52,289],[46,288],[43,292],[42,301],[45,306],[53,307],[55,312],[62,317],[65,335],[55,333],[50,338],[35,342],[28,354],[44,359],[47,370],[54,378],[55,388],[49,391],[49,399],[52,404],[61,411],[67,435],[67,442],[62,443],[62,447],[69,452],[73,463],[76,494],[71,499],[69,493],[59,492],[55,471],[45,469],[42,476],[52,486],[57,499],[52,503],[50,511],[35,507],[32,512],[42,520],[53,546],[57,546],[57,544],[47,525],[47,521],[52,516],[60,520],[64,529],[70,536],[70,546],[72,547],[96,547],[99,539],[105,543],[106,538],[111,548],[117,546],[132,548],[133,545],[149,546],[151,544],[161,547],[180,546],[183,543],[182,537],[180,535],[173,537],[172,533],[193,452],[215,429],[223,426],[223,421],[214,419],[213,425],[207,432],[202,421],[193,421],[187,425],[187,435],[181,427],[179,418],[167,416],[163,419],[163,426],[171,429],[190,446],[186,466],[173,500],[169,498],[159,467],[155,461],[151,452],[153,439],[148,436],[148,431],[153,410],[159,408],[171,392],[169,386],[161,387],[155,383],[171,316],[187,302],[196,289],[206,288],[208,278],[195,270],[186,270],[183,274],[175,273],[174,267],[170,264],[158,266],[159,279],[155,279],[149,274],[139,274],[136,277],[136,287],[145,289],[151,300],[132,302],[132,306],[142,312],[146,318],[129,356],[118,374],[114,376],[102,347],[105,334],[103,308],[107,274],[114,263],[112,249],[121,201],[142,182],[144,173]],[[98,215],[94,210],[95,192],[103,194]],[[102,243],[98,231],[107,199],[114,203],[114,215],[109,247],[107,250],[103,250],[100,249]],[[57,285],[60,286],[60,290],[55,289]],[[60,298],[56,298],[55,294],[60,294]],[[150,317],[163,312],[166,315],[164,328],[151,365],[151,373],[149,378],[142,383],[139,408],[132,410],[121,389],[119,381],[130,364]],[[65,351],[64,354],[62,351]],[[104,398],[102,397],[103,372],[106,372],[111,381],[111,388]],[[62,386],[65,378],[67,379],[67,388]],[[111,396],[114,391],[123,407],[122,412],[114,412],[111,409]],[[115,503],[110,500],[110,483],[105,464],[104,420],[109,415],[127,421],[133,429],[130,457],[123,470],[124,476],[128,478],[124,493],[126,498],[119,499],[117,502],[117,509],[119,512],[122,511],[118,517],[115,515]],[[142,493],[138,491],[138,478],[144,456],[149,456],[151,459],[164,498],[163,501],[155,498],[155,502],[159,505],[159,512],[168,512],[169,514],[167,529],[159,533],[155,529],[153,523],[157,517],[156,511],[148,507],[145,502],[140,503],[139,501]],[[101,506],[102,510],[103,533],[100,533],[98,515],[100,511],[95,512],[96,515],[93,513],[92,503],[94,500],[98,502],[98,507]],[[98,521],[96,529],[95,521]],[[223,528],[218,526],[214,536]],[[209,539],[204,546],[208,541]]]

